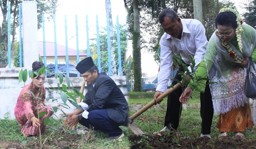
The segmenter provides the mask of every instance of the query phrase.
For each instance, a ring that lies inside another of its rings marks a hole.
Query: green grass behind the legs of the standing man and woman
[[[129,104],[133,103],[149,103],[151,99],[129,99]],[[165,104],[163,104],[165,103]],[[139,117],[134,119],[134,123],[139,126],[147,135],[152,135],[153,132],[160,131],[164,126],[164,119],[166,114],[166,103],[167,98],[164,98],[160,104],[160,109],[152,108],[145,111]],[[192,99],[190,98],[189,103],[200,103],[200,92],[193,92]],[[135,112],[129,112],[129,115],[134,114]],[[212,126],[211,126],[211,137],[218,139],[218,129],[216,124],[218,121],[218,115],[213,115]],[[133,134],[130,131],[131,134]],[[200,108],[191,108],[182,109],[180,116],[180,124],[177,130],[177,136],[175,139],[180,140],[182,138],[198,138],[201,134],[201,116]],[[256,127],[247,128],[247,131],[244,133],[248,139],[256,138]],[[233,136],[233,132],[229,132],[230,136]]]

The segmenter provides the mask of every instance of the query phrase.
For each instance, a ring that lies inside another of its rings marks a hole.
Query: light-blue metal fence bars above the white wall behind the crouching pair
[[[1,52],[0,53],[0,63],[6,63],[8,64],[8,67],[10,68],[11,67],[11,64],[12,64],[12,59],[13,58],[17,58],[19,59],[19,63],[20,63],[20,67],[23,66],[23,57],[22,57],[22,26],[21,26],[21,3],[19,4],[19,32],[20,32],[20,46],[19,46],[19,54],[18,54],[18,58],[15,57],[15,54],[12,54],[12,50],[11,49],[11,37],[10,37],[10,33],[11,33],[11,15],[10,15],[10,3],[8,3],[8,52]],[[112,72],[111,72],[111,69],[116,67],[116,69],[118,70],[117,71],[117,74],[119,76],[122,75],[122,69],[124,67],[124,60],[121,60],[121,48],[120,48],[120,37],[119,37],[119,34],[120,34],[120,29],[119,29],[119,21],[118,21],[118,16],[116,17],[116,32],[117,32],[117,48],[118,48],[118,55],[116,55],[118,57],[118,60],[116,61],[116,65],[113,66],[111,65],[111,52],[110,52],[110,37],[109,37],[109,26],[108,26],[108,22],[109,22],[109,18],[108,18],[108,15],[107,15],[107,33],[108,33],[108,62],[107,63],[104,63],[102,64],[102,61],[101,61],[101,54],[100,54],[100,45],[99,45],[99,24],[98,24],[98,15],[96,16],[96,35],[97,35],[97,60],[96,60],[96,65],[98,66],[99,68],[99,72],[102,71],[102,67],[105,67],[105,65],[108,66],[108,75],[112,75]],[[45,18],[44,18],[44,14],[42,15],[42,29],[43,29],[43,47],[44,47],[44,64],[45,66],[47,66],[47,60],[46,60],[46,45],[45,45]],[[57,37],[57,34],[56,34],[56,20],[55,20],[55,14],[53,15],[53,23],[54,23],[54,43],[55,43],[55,61],[54,63],[55,64],[58,64],[58,56],[57,56],[57,41],[56,41],[56,37]],[[77,19],[77,15],[76,15],[76,50],[77,50],[77,58],[76,58],[76,63],[79,63],[79,32],[78,32],[78,19]],[[87,30],[87,56],[90,56],[90,44],[89,44],[89,33],[88,33],[88,30],[89,30],[89,26],[88,26],[88,16],[86,15],[86,30]],[[65,15],[65,46],[66,46],[66,73],[67,75],[69,75],[69,69],[70,69],[70,62],[69,62],[69,56],[68,56],[68,40],[67,40],[67,17]],[[48,62],[49,63],[49,62]],[[58,65],[54,65],[52,66],[51,68],[54,69],[54,72],[58,72]],[[72,67],[72,66],[71,66]],[[79,72],[77,72],[78,76],[80,76]]]

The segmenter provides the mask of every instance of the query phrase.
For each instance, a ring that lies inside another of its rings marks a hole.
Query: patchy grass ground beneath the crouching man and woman
[[[46,140],[43,149],[56,147],[65,149],[128,149],[130,146],[127,135],[128,127],[120,127],[125,134],[122,140],[105,141],[108,135],[103,132],[93,134],[93,131],[87,129],[88,133],[78,134],[65,129],[62,123],[63,121],[56,120],[52,126],[46,127],[46,132],[42,134],[42,142]],[[17,144],[21,149],[39,148],[39,135],[24,138],[20,132],[21,127],[18,125],[17,120],[0,119],[0,142],[5,142],[5,144],[0,143],[0,149],[6,148],[8,143],[8,148],[15,148]],[[81,124],[78,124],[77,128],[85,129]]]

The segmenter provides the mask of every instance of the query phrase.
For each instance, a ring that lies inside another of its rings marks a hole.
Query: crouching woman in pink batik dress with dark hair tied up
[[[35,61],[32,64],[32,71],[36,72],[42,68],[44,63]],[[23,125],[21,132],[24,137],[38,135],[39,128],[41,133],[45,131],[44,119],[53,114],[52,107],[45,106],[45,88],[44,79],[45,74],[34,74],[32,82],[26,85],[20,92],[17,104],[14,109],[14,114],[17,121]],[[30,92],[29,92],[30,91]],[[35,97],[31,94],[34,94]],[[39,113],[47,112],[44,116],[38,118]]]

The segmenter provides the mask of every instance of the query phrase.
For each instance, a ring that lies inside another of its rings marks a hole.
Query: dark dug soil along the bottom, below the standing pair
[[[202,138],[182,138],[181,135],[159,133],[155,135],[131,135],[131,149],[256,149],[256,140],[244,140],[238,137],[225,137],[221,140]],[[176,140],[176,141],[175,141]]]

